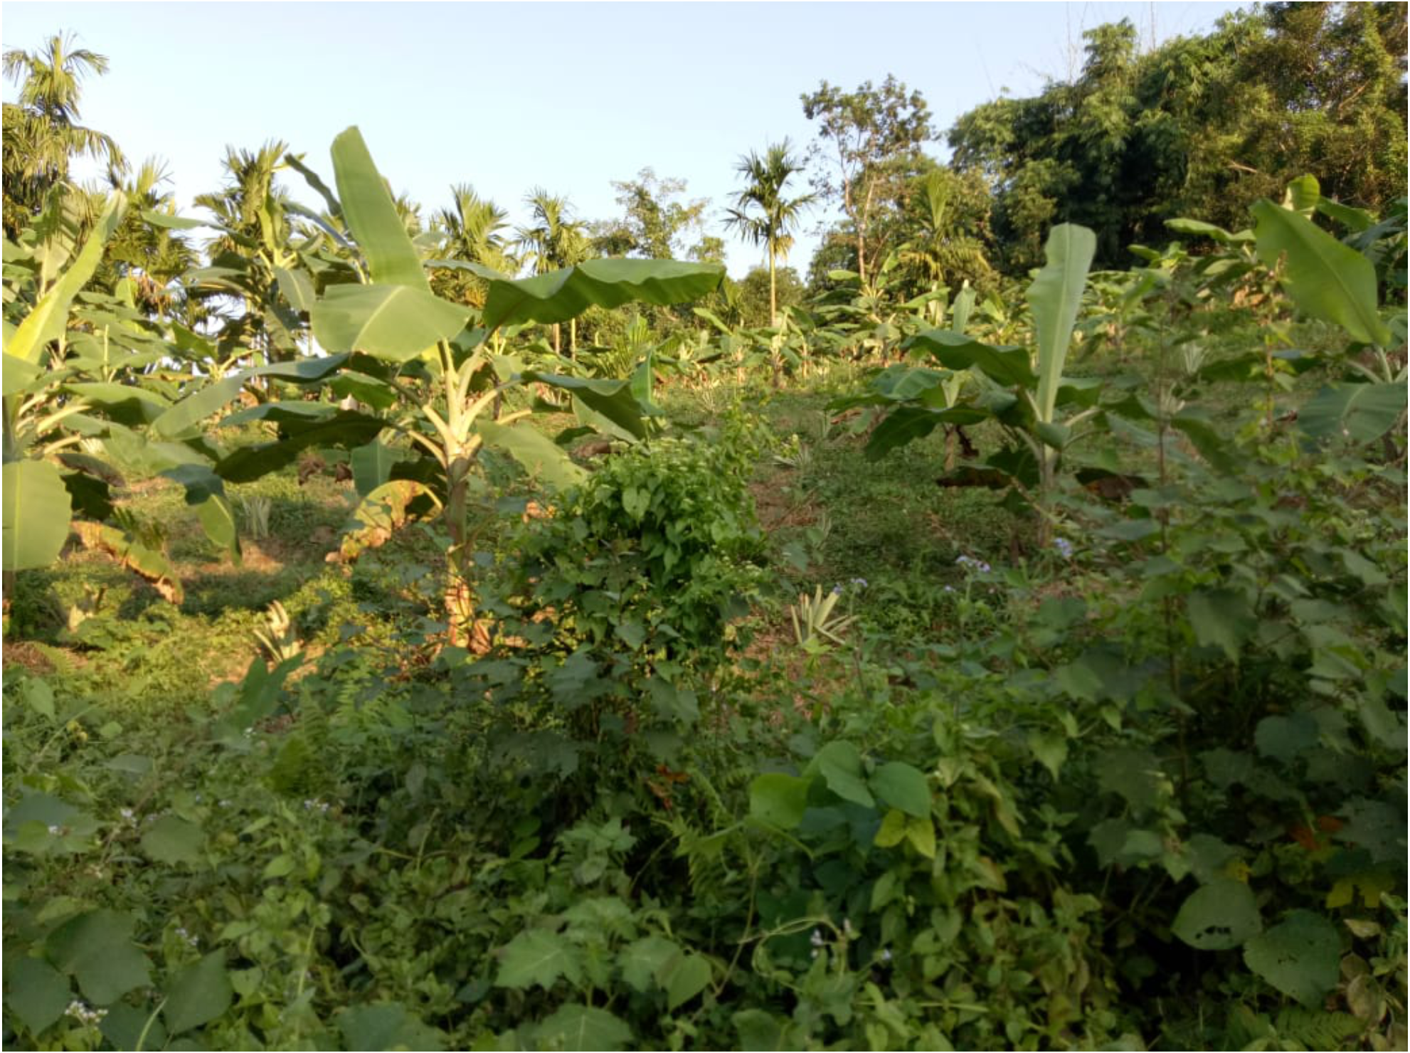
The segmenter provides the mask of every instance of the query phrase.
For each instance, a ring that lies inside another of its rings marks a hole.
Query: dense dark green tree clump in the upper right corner
[[[956,166],[995,187],[1010,273],[1039,264],[1053,223],[1093,228],[1098,264],[1117,266],[1163,220],[1238,223],[1304,172],[1373,210],[1403,193],[1399,8],[1270,4],[1145,52],[1128,20],[1083,37],[1072,78],[984,103],[949,131]]]

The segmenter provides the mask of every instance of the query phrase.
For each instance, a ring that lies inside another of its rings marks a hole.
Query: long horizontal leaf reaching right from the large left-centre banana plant
[[[519,281],[489,279],[481,312],[486,328],[523,321],[567,321],[588,307],[682,303],[712,293],[725,276],[718,264],[675,259],[589,259]]]

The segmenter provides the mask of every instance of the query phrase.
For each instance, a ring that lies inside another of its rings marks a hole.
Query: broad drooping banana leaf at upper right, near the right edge
[[[1365,344],[1389,344],[1376,313],[1376,268],[1311,220],[1263,200],[1253,204],[1258,257],[1268,266],[1286,258],[1283,288],[1304,314],[1331,321]]]

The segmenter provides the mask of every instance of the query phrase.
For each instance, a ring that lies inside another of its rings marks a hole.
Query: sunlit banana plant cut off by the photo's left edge
[[[121,469],[140,460],[169,474],[207,534],[237,557],[238,547],[210,472],[214,451],[166,441],[166,429],[186,413],[176,409],[183,392],[157,369],[171,345],[135,309],[127,279],[113,293],[83,290],[125,210],[121,193],[109,197],[80,245],[55,203],[18,242],[6,242],[3,565],[48,565],[72,529],[180,602],[169,562],[116,515],[110,488]]]

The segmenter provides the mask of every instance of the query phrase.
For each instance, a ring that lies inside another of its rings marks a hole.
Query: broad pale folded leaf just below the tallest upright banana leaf
[[[460,333],[470,309],[405,285],[334,285],[312,317],[313,337],[329,351],[407,362]]]

